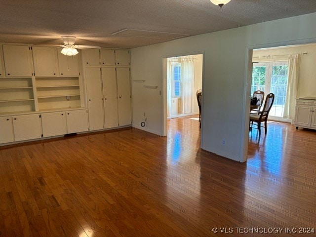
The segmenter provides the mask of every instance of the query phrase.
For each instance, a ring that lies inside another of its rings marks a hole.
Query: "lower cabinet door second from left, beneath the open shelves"
[[[12,118],[15,141],[40,138],[41,122],[39,115],[21,115]]]

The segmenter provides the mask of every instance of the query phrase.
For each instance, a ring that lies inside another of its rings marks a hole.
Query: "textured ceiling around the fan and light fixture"
[[[316,12],[316,0],[0,0],[0,42],[133,48],[163,39],[112,36],[125,28],[199,35]]]

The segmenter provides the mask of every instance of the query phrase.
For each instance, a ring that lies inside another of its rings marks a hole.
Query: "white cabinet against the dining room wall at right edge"
[[[316,98],[296,101],[294,124],[296,129],[298,127],[316,129]]]

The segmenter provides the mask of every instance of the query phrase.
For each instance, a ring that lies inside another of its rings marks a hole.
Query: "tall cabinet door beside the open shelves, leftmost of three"
[[[87,84],[89,129],[90,131],[103,129],[104,118],[100,68],[86,68],[85,80]]]

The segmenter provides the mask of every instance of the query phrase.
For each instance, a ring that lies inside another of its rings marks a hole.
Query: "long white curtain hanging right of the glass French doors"
[[[288,59],[288,79],[284,105],[283,118],[292,119],[295,117],[295,98],[297,95],[297,85],[299,77],[300,61],[298,54],[289,55]]]

